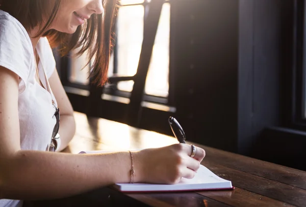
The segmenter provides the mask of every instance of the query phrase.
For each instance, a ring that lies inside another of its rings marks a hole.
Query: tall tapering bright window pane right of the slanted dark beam
[[[163,5],[152,52],[145,93],[168,97],[169,90],[170,4]]]

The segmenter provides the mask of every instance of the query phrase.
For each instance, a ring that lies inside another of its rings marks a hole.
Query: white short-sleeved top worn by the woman
[[[39,40],[36,49],[40,57],[38,67],[40,79],[46,86],[42,70],[44,69],[49,78],[56,68],[55,58],[46,38]],[[21,149],[45,151],[56,124],[52,97],[55,103],[56,100],[35,79],[35,57],[27,31],[17,19],[2,10],[0,10],[0,66],[20,77],[18,114]],[[3,206],[22,206],[22,201],[0,199],[0,207]]]

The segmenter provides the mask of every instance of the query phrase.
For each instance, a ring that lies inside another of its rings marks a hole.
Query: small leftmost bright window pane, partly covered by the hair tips
[[[89,68],[90,66],[85,64],[88,62],[87,54],[84,53],[81,56],[73,56],[76,50],[72,51],[71,65],[69,68],[69,81],[73,83],[79,83],[87,85],[89,83]],[[85,68],[84,68],[85,67]]]

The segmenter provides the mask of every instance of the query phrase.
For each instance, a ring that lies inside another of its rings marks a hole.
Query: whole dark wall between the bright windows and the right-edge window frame
[[[176,2],[177,119],[190,140],[249,155],[278,125],[282,1]]]

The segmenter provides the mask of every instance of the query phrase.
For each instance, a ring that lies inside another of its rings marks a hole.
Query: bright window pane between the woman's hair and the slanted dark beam
[[[143,40],[144,8],[141,5],[121,7],[118,11],[118,74],[136,74]],[[131,92],[133,81],[118,83],[118,89]]]

